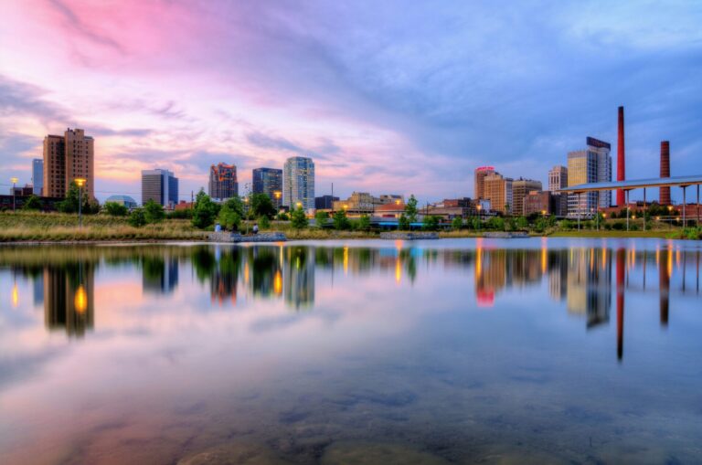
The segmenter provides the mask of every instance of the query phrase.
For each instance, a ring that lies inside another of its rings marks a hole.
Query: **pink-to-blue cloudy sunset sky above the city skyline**
[[[79,127],[101,200],[139,200],[154,167],[183,199],[219,162],[242,189],[296,155],[317,196],[473,196],[477,166],[546,185],[587,136],[616,147],[619,105],[627,178],[658,174],[662,140],[672,175],[702,174],[702,2],[2,0],[0,17],[3,191]]]

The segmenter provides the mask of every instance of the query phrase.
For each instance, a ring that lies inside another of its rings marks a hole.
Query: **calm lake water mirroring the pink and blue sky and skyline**
[[[700,248],[0,248],[0,462],[699,463]]]

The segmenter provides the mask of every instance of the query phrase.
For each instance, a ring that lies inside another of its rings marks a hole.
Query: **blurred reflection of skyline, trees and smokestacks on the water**
[[[336,285],[339,280],[345,285],[349,277],[363,277],[391,279],[396,286],[415,285],[418,280],[416,285],[421,288],[437,265],[443,272],[473,269],[478,305],[494,306],[503,292],[543,284],[564,310],[583,319],[586,328],[609,324],[615,306],[620,356],[627,295],[655,292],[660,325],[665,328],[673,316],[671,299],[699,292],[700,252],[675,249],[671,244],[662,244],[654,252],[634,248],[548,249],[546,242],[541,248],[485,248],[485,243],[476,241],[475,249],[420,248],[402,242],[383,248],[280,244],[76,248],[63,254],[49,248],[27,248],[21,253],[4,249],[0,250],[0,266],[9,266],[11,276],[20,284],[12,286],[12,305],[24,302],[22,280],[31,280],[27,291],[35,306],[44,308],[47,328],[63,330],[69,336],[82,335],[93,327],[96,270],[124,263],[142,270],[144,294],[172,292],[178,278],[182,279],[179,268],[189,264],[213,302],[247,305],[250,299],[282,299],[293,310],[314,307],[315,281],[324,274],[331,277],[321,281],[325,286],[334,287],[336,276]],[[242,290],[247,298],[238,302],[238,291]]]

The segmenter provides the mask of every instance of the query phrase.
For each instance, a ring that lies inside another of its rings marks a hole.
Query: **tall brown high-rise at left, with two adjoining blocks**
[[[44,138],[44,196],[63,197],[77,178],[86,180],[84,192],[95,197],[94,140],[82,129]]]

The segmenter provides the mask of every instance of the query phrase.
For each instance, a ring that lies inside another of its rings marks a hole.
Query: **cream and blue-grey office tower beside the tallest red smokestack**
[[[585,150],[568,153],[569,186],[612,181],[611,145],[593,137],[586,142]],[[568,216],[592,217],[599,208],[607,208],[611,203],[611,191],[572,194],[568,196]]]

